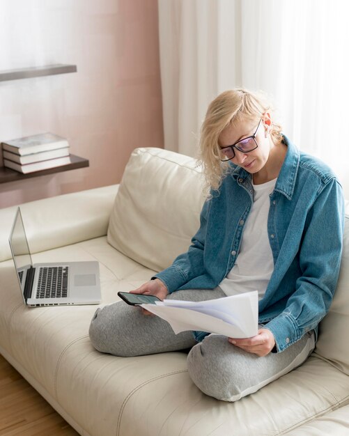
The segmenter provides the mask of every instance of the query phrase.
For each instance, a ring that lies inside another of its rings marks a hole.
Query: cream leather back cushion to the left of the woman
[[[161,148],[137,148],[111,213],[108,242],[160,271],[187,251],[199,228],[203,176],[196,159]]]

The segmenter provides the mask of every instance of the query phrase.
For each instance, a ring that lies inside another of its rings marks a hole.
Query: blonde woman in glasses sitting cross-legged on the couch
[[[134,293],[201,301],[258,290],[258,334],[174,334],[123,302],[95,313],[95,348],[119,356],[191,348],[201,391],[234,401],[302,364],[332,302],[343,234],[341,185],[323,162],[300,153],[272,120],[262,95],[226,91],[201,131],[208,199],[187,253]]]

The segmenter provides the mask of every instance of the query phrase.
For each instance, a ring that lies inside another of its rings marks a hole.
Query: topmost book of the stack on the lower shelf
[[[66,148],[68,146],[69,143],[66,139],[49,132],[12,139],[2,143],[3,150],[10,151],[20,156],[56,150],[56,148]]]

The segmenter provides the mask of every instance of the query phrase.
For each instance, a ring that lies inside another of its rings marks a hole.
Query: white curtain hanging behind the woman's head
[[[158,0],[165,148],[196,155],[209,102],[266,91],[287,136],[349,198],[349,2]]]

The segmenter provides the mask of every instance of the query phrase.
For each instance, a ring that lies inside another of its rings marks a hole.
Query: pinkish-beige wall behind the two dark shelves
[[[134,148],[163,146],[157,0],[32,0],[35,35],[15,25],[30,2],[16,3],[8,17],[14,33],[4,42],[35,37],[26,52],[40,48],[40,56],[21,63],[13,45],[0,70],[35,61],[73,63],[77,73],[0,82],[0,140],[54,132],[90,166],[3,183],[0,208],[119,182]]]

